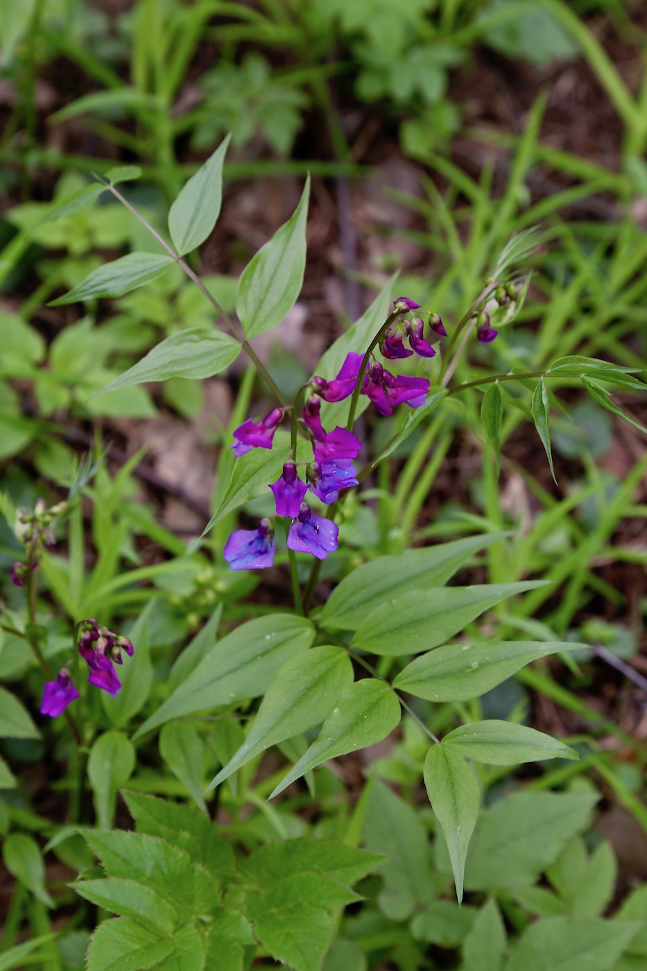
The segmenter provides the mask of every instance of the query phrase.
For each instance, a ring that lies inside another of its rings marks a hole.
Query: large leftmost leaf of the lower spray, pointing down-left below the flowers
[[[305,651],[314,639],[312,623],[291,614],[241,624],[214,646],[133,737],[171,719],[264,694],[284,661]]]

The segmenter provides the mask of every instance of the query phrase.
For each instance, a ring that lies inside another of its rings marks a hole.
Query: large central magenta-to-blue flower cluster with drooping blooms
[[[434,356],[435,351],[424,335],[424,321],[417,317],[402,319],[403,315],[419,309],[420,304],[408,297],[398,297],[394,301],[394,313],[383,327],[379,340],[376,338],[373,342],[379,344],[384,357],[409,357],[413,353],[422,357]],[[430,340],[447,336],[437,315],[429,318],[429,330]],[[409,348],[405,348],[405,340]],[[410,408],[423,405],[429,381],[408,375],[395,377],[372,354],[369,359],[368,354],[350,352],[332,381],[315,375],[306,386],[311,394],[300,418],[310,438],[314,461],[306,464],[302,479],[290,452],[281,477],[269,487],[274,493],[276,515],[290,520],[288,549],[324,559],[337,549],[339,529],[332,519],[312,512],[306,501],[307,493],[312,492],[324,505],[330,505],[336,502],[342,490],[358,485],[353,462],[358,457],[361,443],[357,435],[339,425],[326,431],[321,419],[322,401],[343,401],[356,392],[366,395],[380,415],[392,415],[393,409],[400,404]],[[260,421],[248,419],[236,428],[231,447],[234,454],[243,455],[254,448],[271,449],[274,433],[288,410],[275,408]],[[354,406],[351,412],[354,413]],[[292,414],[293,428],[295,421],[296,416]],[[261,519],[256,529],[235,530],[224,546],[223,556],[233,570],[260,570],[272,565],[275,552],[272,523],[270,519]]]

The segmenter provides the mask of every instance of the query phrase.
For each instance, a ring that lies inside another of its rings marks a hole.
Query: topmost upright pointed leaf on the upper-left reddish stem
[[[230,137],[191,176],[171,206],[168,231],[181,256],[204,243],[221,215],[222,163]]]

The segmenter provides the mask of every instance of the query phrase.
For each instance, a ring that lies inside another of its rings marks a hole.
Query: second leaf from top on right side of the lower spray
[[[515,593],[543,586],[543,581],[479,586],[440,586],[387,594],[362,620],[352,646],[373,654],[416,654],[458,634],[494,604]]]

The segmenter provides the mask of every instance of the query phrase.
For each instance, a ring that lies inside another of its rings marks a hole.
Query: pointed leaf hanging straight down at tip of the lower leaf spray
[[[426,753],[424,778],[431,809],[449,850],[460,903],[467,847],[481,802],[479,785],[462,755],[447,749],[444,742]]]

